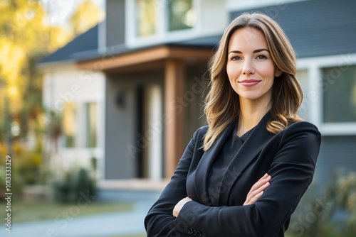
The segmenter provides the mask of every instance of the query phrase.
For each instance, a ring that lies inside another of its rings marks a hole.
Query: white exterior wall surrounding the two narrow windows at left
[[[51,166],[64,170],[68,170],[72,165],[90,167],[90,158],[95,157],[98,159],[97,177],[103,177],[103,172],[100,170],[103,167],[105,75],[101,72],[77,70],[71,64],[45,67],[43,73],[43,105],[46,108],[61,114],[63,104],[73,102],[78,105],[75,148],[65,148],[59,139],[57,153],[47,150],[48,154],[51,154]],[[85,147],[84,111],[85,103],[89,102],[96,102],[98,106],[97,148]],[[50,120],[47,117],[43,121],[48,123]],[[46,148],[51,147],[49,139],[46,143]]]

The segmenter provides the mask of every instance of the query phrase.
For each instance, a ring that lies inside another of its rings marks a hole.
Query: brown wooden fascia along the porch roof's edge
[[[209,60],[212,50],[209,48],[192,48],[179,46],[159,46],[146,50],[135,51],[113,57],[100,58],[98,60],[79,62],[79,70],[108,71],[122,67],[138,66],[165,59],[182,60]]]

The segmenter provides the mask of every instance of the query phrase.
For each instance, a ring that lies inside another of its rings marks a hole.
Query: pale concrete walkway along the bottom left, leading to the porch
[[[109,214],[79,216],[73,219],[33,221],[12,224],[11,232],[6,231],[4,221],[0,228],[1,237],[107,237],[142,234],[145,235],[143,220],[150,206],[157,200],[158,193],[107,192],[100,194],[101,200],[130,199],[134,202],[132,211]],[[119,198],[119,199],[117,199]]]

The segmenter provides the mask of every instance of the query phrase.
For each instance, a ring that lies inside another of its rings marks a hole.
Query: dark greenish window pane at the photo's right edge
[[[356,65],[323,69],[324,122],[356,122]]]

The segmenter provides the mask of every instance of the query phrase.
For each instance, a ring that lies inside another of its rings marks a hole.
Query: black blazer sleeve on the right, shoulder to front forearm
[[[320,133],[312,123],[298,122],[282,133],[278,153],[268,174],[271,185],[247,206],[204,206],[187,202],[177,216],[182,229],[198,229],[202,236],[274,236],[290,218],[313,180]]]

